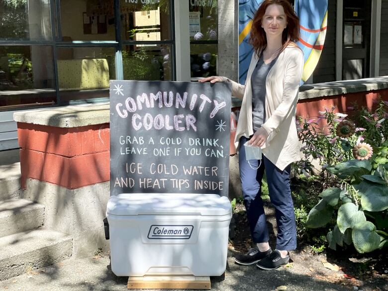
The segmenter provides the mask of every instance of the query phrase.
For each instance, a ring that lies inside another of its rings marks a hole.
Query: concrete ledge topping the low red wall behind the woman
[[[368,92],[388,88],[388,76],[359,80],[337,81],[302,85],[299,88],[299,100],[336,96],[349,93]],[[233,97],[232,107],[241,107],[242,100]]]

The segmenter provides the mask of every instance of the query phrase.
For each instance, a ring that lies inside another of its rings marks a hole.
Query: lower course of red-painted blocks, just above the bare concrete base
[[[30,149],[20,150],[22,187],[27,178],[68,189],[109,181],[109,151],[72,158]]]

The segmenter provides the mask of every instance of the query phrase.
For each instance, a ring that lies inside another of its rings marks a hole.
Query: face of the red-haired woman
[[[287,26],[287,16],[282,5],[271,4],[267,7],[263,16],[261,27],[264,28],[267,37],[282,35]]]

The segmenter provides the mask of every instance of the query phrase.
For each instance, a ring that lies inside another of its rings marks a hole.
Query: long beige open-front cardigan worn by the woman
[[[240,137],[253,134],[251,76],[258,60],[254,53],[245,86],[223,77],[224,82],[232,83],[232,95],[242,99],[234,139],[237,149]],[[266,79],[266,121],[262,127],[267,131],[268,139],[262,151],[282,171],[300,160],[295,113],[303,65],[303,52],[288,46],[280,53]]]

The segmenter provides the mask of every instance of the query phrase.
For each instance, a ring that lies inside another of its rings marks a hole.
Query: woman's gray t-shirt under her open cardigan
[[[266,78],[277,58],[271,63],[265,64],[262,54],[252,73],[252,123],[255,131],[261,127],[266,119]]]

